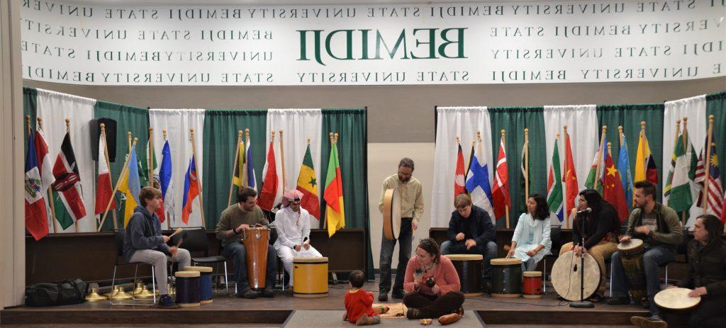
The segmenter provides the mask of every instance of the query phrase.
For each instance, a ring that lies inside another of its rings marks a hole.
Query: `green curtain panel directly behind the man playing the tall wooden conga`
[[[267,110],[207,110],[204,117],[203,141],[203,197],[204,218],[207,229],[214,229],[219,215],[227,208],[229,184],[232,181],[234,150],[237,149],[237,132],[250,129],[256,189],[262,184],[262,168],[266,159]],[[243,137],[244,139],[244,137]],[[245,146],[246,147],[246,146]],[[232,192],[232,203],[237,202]]]

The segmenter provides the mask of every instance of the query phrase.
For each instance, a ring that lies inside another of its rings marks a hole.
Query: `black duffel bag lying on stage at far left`
[[[81,279],[43,282],[25,287],[25,306],[62,306],[86,301],[88,284]]]

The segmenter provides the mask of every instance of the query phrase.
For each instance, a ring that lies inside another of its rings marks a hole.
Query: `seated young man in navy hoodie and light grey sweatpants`
[[[144,186],[139,192],[141,206],[134,208],[134,215],[126,225],[123,237],[123,258],[129,262],[149,263],[154,266],[154,276],[159,287],[159,306],[176,308],[174,300],[169,296],[166,285],[166,261],[179,263],[180,268],[189,266],[192,257],[188,250],[176,246],[169,247],[168,236],[161,234],[161,222],[156,210],[161,208],[161,192],[159,189]]]

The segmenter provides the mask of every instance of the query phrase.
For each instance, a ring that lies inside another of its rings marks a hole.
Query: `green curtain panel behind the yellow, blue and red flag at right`
[[[630,171],[635,174],[635,157],[638,139],[640,136],[640,121],[645,120],[645,136],[648,137],[650,152],[658,165],[657,200],[661,201],[661,189],[666,179],[664,168],[661,168],[663,158],[663,113],[664,104],[599,104],[597,105],[597,123],[600,127],[608,126],[605,135],[608,142],[613,145],[613,161],[617,163],[620,152],[620,138],[618,126],[623,127],[623,134],[628,143],[628,157]],[[599,139],[599,138],[598,138]],[[665,168],[667,174],[668,168]],[[635,183],[635,181],[633,181]]]

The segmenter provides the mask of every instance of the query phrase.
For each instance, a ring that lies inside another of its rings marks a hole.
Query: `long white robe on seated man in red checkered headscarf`
[[[303,245],[303,239],[306,237],[305,242],[310,243],[310,213],[304,208],[300,208],[300,212],[293,212],[289,206],[282,208],[274,216],[274,226],[277,229],[274,249],[277,250],[277,256],[280,256],[285,271],[290,275],[290,286],[292,286],[293,258],[322,257],[312,245],[307,250],[301,247],[299,252],[295,251],[295,245]]]

